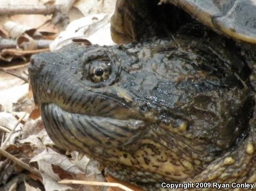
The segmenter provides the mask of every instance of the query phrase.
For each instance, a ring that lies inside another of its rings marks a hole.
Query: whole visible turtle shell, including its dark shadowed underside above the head
[[[117,0],[113,40],[127,43],[173,31],[189,21],[182,11],[219,34],[256,44],[256,0]]]

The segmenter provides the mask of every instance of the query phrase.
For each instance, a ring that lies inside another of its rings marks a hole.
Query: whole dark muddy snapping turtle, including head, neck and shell
[[[181,182],[253,188],[255,45],[207,27],[254,43],[255,21],[229,28],[233,33],[225,30],[225,19],[250,9],[253,1],[165,2],[174,5],[117,1],[113,39],[138,43],[73,44],[33,56],[30,83],[45,128],[57,146],[87,154],[105,165],[105,173],[148,190],[160,190],[162,182],[176,183],[177,190],[185,189]],[[205,6],[227,16],[217,17]],[[166,19],[172,13],[176,17]],[[256,13],[241,19],[246,16]],[[241,24],[236,21],[230,25]],[[156,37],[141,39],[151,36]],[[213,186],[208,189],[217,190]]]

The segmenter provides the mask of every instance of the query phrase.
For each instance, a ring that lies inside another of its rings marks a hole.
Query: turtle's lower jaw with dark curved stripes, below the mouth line
[[[41,105],[45,129],[61,148],[86,154],[101,154],[105,149],[136,143],[145,122],[69,113],[53,103]]]

